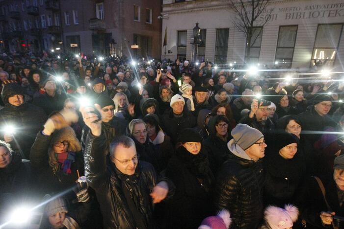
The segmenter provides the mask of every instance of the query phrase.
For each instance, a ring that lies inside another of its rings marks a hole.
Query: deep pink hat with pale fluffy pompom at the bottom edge
[[[222,209],[216,216],[209,216],[205,218],[198,229],[229,229],[232,223],[231,213]]]

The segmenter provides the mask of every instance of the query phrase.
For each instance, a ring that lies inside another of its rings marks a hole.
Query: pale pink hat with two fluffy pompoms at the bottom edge
[[[292,227],[298,214],[297,207],[293,205],[285,205],[284,208],[268,206],[264,211],[264,218],[271,229],[286,229]]]

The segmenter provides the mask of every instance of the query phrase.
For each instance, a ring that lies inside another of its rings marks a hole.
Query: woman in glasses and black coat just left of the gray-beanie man
[[[207,152],[210,167],[215,177],[230,153],[227,147],[227,143],[231,139],[228,127],[229,120],[225,115],[211,117],[208,123],[210,136],[202,144],[205,152]]]

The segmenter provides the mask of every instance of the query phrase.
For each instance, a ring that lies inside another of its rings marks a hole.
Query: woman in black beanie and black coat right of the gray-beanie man
[[[278,134],[274,145],[268,148],[263,163],[265,206],[295,204],[306,170],[303,155],[297,152],[298,142],[293,134]]]

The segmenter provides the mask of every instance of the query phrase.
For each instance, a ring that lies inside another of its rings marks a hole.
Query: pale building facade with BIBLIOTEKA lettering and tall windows
[[[268,16],[269,15],[269,16]],[[275,0],[260,15],[268,16],[250,48],[250,61],[284,68],[310,68],[319,59],[343,70],[344,2],[342,0]],[[245,62],[246,39],[234,26],[228,0],[163,0],[162,32],[167,45],[162,58],[192,58],[193,28],[201,28],[197,59],[218,64]],[[163,45],[163,41],[161,46]],[[165,51],[166,50],[166,51]]]

